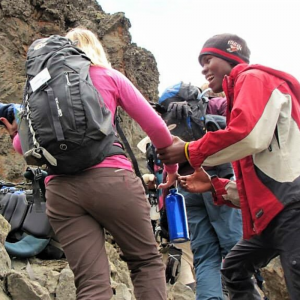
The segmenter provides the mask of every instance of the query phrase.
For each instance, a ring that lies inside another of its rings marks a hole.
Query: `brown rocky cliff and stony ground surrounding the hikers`
[[[112,66],[125,74],[146,99],[157,100],[159,73],[155,58],[151,52],[131,43],[130,21],[123,13],[106,14],[94,0],[0,0],[0,19],[0,102],[21,103],[26,51],[35,39],[64,35],[79,25],[98,34]],[[121,116],[122,128],[135,148],[144,133],[124,112]],[[144,155],[135,152],[143,171]],[[0,128],[0,180],[22,180],[24,170],[23,158],[14,152],[6,131]],[[0,299],[75,300],[73,273],[67,262],[11,259],[4,247],[9,230],[9,224],[0,215]],[[106,243],[106,249],[115,291],[113,299],[134,299],[126,264],[110,243]],[[270,300],[288,299],[278,260],[264,269],[263,275]],[[168,300],[189,299],[195,299],[195,295],[186,286],[180,283],[168,286]]]

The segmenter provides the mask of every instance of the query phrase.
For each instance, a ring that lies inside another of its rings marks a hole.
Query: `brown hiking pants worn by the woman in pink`
[[[103,228],[122,250],[136,299],[167,299],[150,205],[133,172],[97,168],[57,176],[47,184],[46,198],[50,223],[75,276],[77,300],[113,296]]]

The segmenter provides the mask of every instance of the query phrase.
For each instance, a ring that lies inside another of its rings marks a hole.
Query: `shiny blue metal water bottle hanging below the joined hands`
[[[170,189],[165,199],[169,237],[171,243],[189,241],[189,229],[186,216],[185,201],[177,188]]]

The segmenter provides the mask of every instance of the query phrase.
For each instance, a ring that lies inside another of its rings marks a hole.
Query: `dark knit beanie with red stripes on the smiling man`
[[[199,63],[204,55],[211,54],[234,64],[249,64],[250,50],[246,41],[235,34],[223,33],[208,39],[200,52]]]

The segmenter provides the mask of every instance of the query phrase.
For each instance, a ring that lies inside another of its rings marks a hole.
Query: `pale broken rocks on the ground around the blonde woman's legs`
[[[1,300],[75,300],[74,275],[65,259],[10,258],[3,245],[10,230],[0,215],[0,299]],[[134,300],[127,264],[117,247],[106,242],[111,269],[112,300]],[[168,300],[193,300],[194,292],[181,283],[168,286]]]

